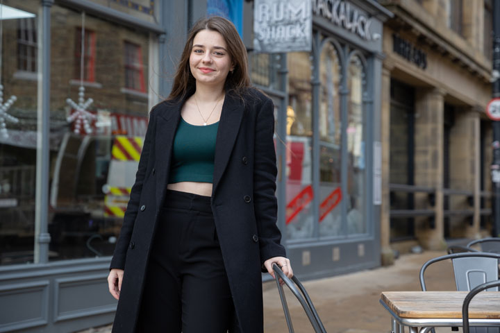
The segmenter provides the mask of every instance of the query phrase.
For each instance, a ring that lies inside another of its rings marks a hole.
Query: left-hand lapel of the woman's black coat
[[[172,148],[174,146],[174,137],[179,120],[181,119],[181,108],[184,100],[166,105],[163,110],[159,110],[156,123],[155,137],[155,155],[156,155],[156,209],[159,210],[165,191],[170,171],[170,162],[172,158]]]

